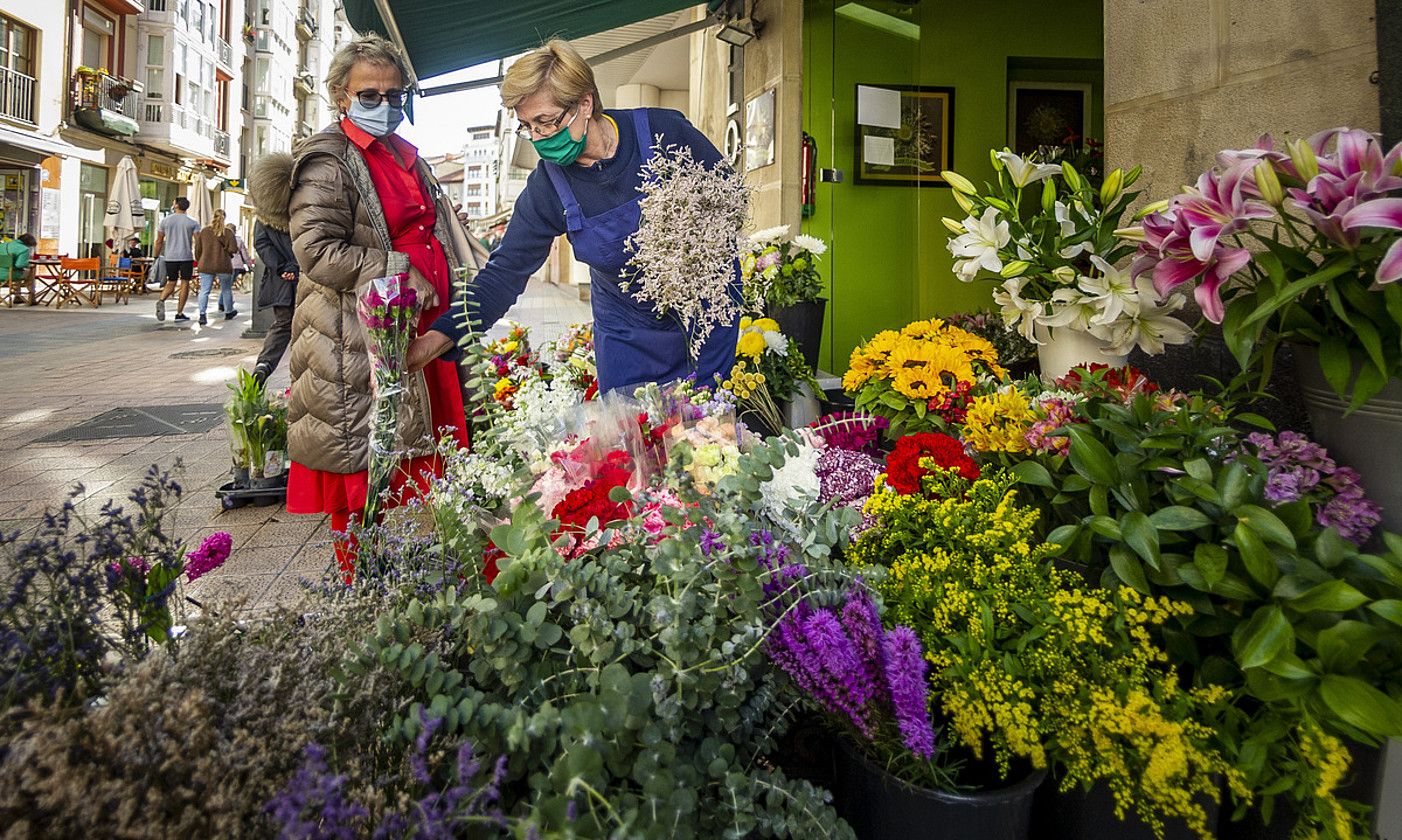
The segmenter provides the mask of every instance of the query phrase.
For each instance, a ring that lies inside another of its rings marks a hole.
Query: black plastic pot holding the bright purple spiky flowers
[[[1026,840],[1044,770],[1007,787],[951,794],[917,788],[837,745],[837,812],[858,840]]]

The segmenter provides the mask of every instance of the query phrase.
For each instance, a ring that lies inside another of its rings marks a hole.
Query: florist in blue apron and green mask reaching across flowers
[[[656,137],[690,147],[707,168],[721,160],[715,146],[676,111],[600,109],[593,70],[564,41],[551,41],[510,66],[502,80],[502,104],[516,111],[516,130],[534,144],[541,164],[516,199],[501,247],[467,286],[467,307],[479,328],[506,314],[545,262],[555,237],[566,234],[593,280],[600,391],[629,393],[634,386],[691,374],[711,384],[716,373],[728,373],[735,363],[733,321],[712,330],[693,359],[677,318],[655,314],[649,303],[620,287],[629,259],[627,241],[641,219],[639,170]],[[737,272],[733,289],[739,300]],[[409,366],[439,355],[453,358],[465,331],[450,310],[409,348]]]

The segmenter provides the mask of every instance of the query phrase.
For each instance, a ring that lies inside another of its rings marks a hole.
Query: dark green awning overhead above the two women
[[[697,6],[698,0],[381,0],[415,76],[429,79]],[[394,39],[376,0],[345,0],[358,32]],[[586,56],[587,57],[587,56]]]

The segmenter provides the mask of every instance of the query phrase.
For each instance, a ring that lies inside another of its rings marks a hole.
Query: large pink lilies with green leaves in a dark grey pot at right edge
[[[1339,128],[1217,160],[1144,219],[1133,273],[1193,287],[1244,379],[1290,344],[1315,435],[1402,530],[1402,144]]]

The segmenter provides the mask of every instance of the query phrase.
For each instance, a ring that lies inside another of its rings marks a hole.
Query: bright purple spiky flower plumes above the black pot
[[[890,714],[906,749],[935,753],[930,691],[920,639],[908,627],[886,631],[865,586],[848,593],[841,613],[799,603],[768,641],[770,658],[801,690],[871,738],[878,715]]]

